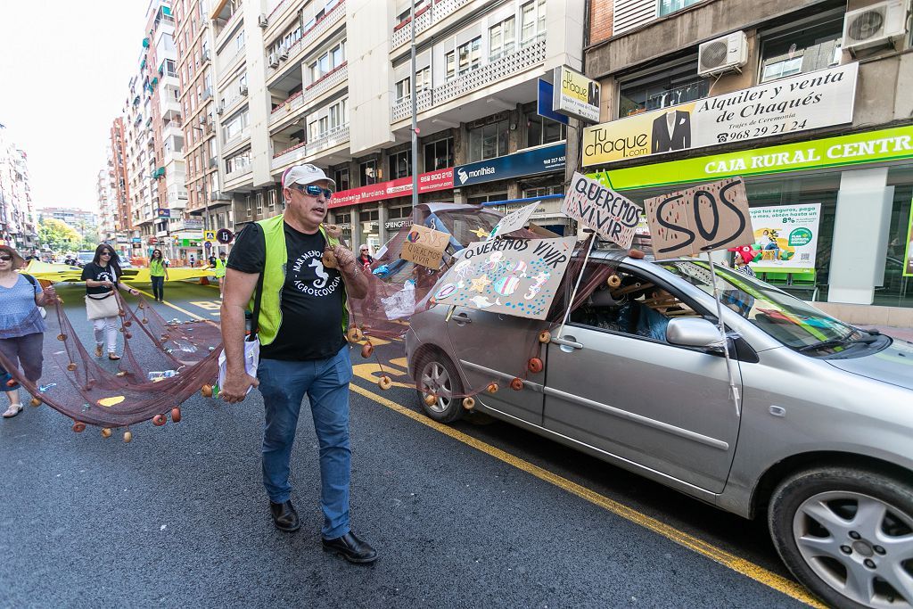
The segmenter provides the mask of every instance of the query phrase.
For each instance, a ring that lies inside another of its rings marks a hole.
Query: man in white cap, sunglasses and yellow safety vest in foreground
[[[284,531],[300,526],[289,499],[289,457],[301,400],[308,395],[320,444],[323,549],[364,563],[374,562],[377,552],[349,524],[352,361],[344,330],[346,292],[364,298],[368,280],[354,254],[321,224],[334,186],[314,165],[289,168],[282,176],[285,213],[253,223],[237,236],[222,300],[226,381],[220,395],[236,403],[251,386],[263,394],[263,482],[273,523]],[[327,249],[338,269],[323,266]],[[245,371],[244,314],[248,307],[254,309],[257,291],[260,362],[254,378]]]

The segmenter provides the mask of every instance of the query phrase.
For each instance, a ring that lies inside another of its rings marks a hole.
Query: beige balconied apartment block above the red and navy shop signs
[[[584,8],[576,0],[416,3],[420,201],[511,205],[541,196],[537,221],[563,230],[566,128],[540,117],[535,102],[552,68],[582,67]],[[281,212],[278,184],[296,163],[334,178],[331,220],[352,247],[379,247],[404,225],[410,12],[392,0],[214,5],[219,173],[236,225]]]

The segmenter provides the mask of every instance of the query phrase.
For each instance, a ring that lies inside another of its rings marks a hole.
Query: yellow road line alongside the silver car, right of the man
[[[818,599],[816,599],[811,593],[805,590],[805,588],[799,583],[792,582],[791,580],[788,580],[785,577],[778,575],[777,573],[764,569],[760,565],[746,561],[745,559],[740,558],[728,551],[721,550],[720,548],[709,544],[707,541],[698,539],[697,537],[690,535],[683,530],[677,530],[676,528],[667,525],[665,522],[661,522],[660,520],[656,520],[655,518],[651,518],[645,514],[642,514],[635,509],[629,508],[623,503],[615,501],[614,499],[604,497],[603,495],[600,495],[599,493],[589,488],[582,487],[581,485],[572,482],[567,478],[562,478],[557,474],[553,474],[547,469],[535,466],[529,461],[524,461],[523,459],[515,457],[510,453],[501,450],[500,448],[488,445],[485,442],[477,440],[472,436],[467,436],[463,432],[456,431],[456,429],[448,427],[447,425],[437,423],[425,415],[420,415],[414,410],[410,410],[409,408],[405,408],[400,404],[396,404],[395,402],[383,397],[382,395],[374,394],[373,392],[364,389],[357,384],[352,383],[349,386],[356,394],[362,394],[368,399],[371,399],[378,404],[382,404],[399,413],[400,415],[408,416],[418,423],[427,425],[432,429],[445,434],[446,436],[450,436],[455,440],[466,444],[467,446],[472,446],[473,448],[476,448],[477,450],[480,450],[491,457],[495,457],[498,460],[507,463],[509,466],[517,467],[518,469],[531,474],[536,478],[540,478],[540,480],[544,480],[545,482],[553,484],[556,487],[572,493],[581,499],[586,499],[594,505],[597,505],[603,509],[607,509],[617,516],[624,518],[624,520],[629,520],[644,527],[645,529],[652,530],[670,541],[675,541],[677,544],[685,546],[689,550],[696,551],[698,554],[706,556],[712,561],[719,562],[719,564],[729,567],[729,569],[732,571],[741,573],[742,575],[745,575],[746,577],[749,577],[756,582],[770,586],[777,592],[786,594],[787,596],[790,596],[797,601],[801,601],[804,604],[826,609],[826,605],[821,604]]]

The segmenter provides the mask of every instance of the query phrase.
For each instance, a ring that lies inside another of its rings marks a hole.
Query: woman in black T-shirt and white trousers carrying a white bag
[[[133,296],[140,292],[121,283],[121,260],[110,246],[95,248],[95,257],[82,268],[81,280],[86,282],[86,315],[95,331],[95,357],[101,357],[104,342],[108,341],[108,359],[120,360],[117,354],[117,318],[121,307],[114,289]]]

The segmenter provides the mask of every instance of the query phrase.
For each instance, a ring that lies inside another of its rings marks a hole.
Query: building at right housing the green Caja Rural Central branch
[[[568,158],[638,203],[740,175],[763,277],[844,320],[913,324],[909,8],[591,0],[601,122]]]

